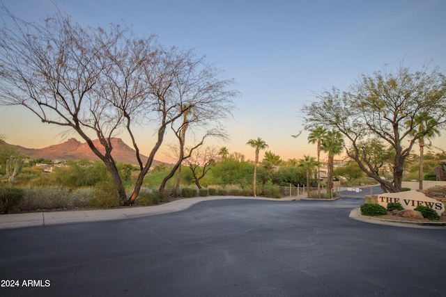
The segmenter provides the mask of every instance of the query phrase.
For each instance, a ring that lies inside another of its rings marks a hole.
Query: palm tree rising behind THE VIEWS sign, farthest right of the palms
[[[418,145],[420,145],[420,163],[418,168],[418,182],[420,190],[423,188],[423,166],[424,166],[424,146],[425,138],[433,138],[435,136],[440,136],[440,131],[436,128],[430,129],[427,133],[425,131],[426,127],[436,127],[436,120],[432,118],[427,113],[420,113],[418,115],[415,115],[415,118],[413,120],[415,122],[415,125],[418,126],[418,131],[416,129],[413,129],[411,134],[415,136],[416,134],[420,135],[420,138],[418,138]],[[410,122],[407,122],[406,125],[410,125]]]

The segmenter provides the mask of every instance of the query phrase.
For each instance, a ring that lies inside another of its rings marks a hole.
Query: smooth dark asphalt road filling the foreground
[[[363,200],[215,200],[0,230],[0,296],[446,296],[445,230],[348,218]]]

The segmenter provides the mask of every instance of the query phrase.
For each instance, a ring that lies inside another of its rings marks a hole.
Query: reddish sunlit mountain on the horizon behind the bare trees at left
[[[112,138],[112,156],[117,163],[130,163],[136,165],[137,159],[135,156],[135,151],[132,147],[126,145],[121,138]],[[102,148],[98,139],[94,140],[93,143],[96,147]],[[30,159],[47,159],[47,160],[75,160],[75,159],[88,159],[90,161],[99,160],[90,149],[87,143],[81,143],[75,138],[70,138],[64,143],[59,145],[50,145],[49,147],[43,147],[40,149],[30,149],[26,147],[21,147],[20,145],[14,145],[17,150],[20,150]],[[100,150],[102,153],[105,150]],[[141,160],[146,163],[148,157],[141,154]],[[162,162],[153,160],[153,166],[156,166]]]

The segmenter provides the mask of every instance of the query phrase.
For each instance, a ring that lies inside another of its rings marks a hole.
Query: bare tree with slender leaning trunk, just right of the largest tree
[[[172,90],[179,99],[182,119],[172,121],[171,131],[178,139],[178,159],[171,172],[164,177],[160,185],[163,192],[165,185],[181,163],[190,157],[192,152],[203,145],[206,138],[220,138],[225,141],[228,136],[221,125],[221,121],[231,115],[233,104],[229,97],[238,95],[238,92],[226,90],[231,81],[217,79],[219,72],[212,65],[203,64],[203,58],[196,59],[192,51],[181,51],[184,54],[182,61],[174,73]],[[194,140],[190,149],[185,152],[186,131],[190,131]]]

